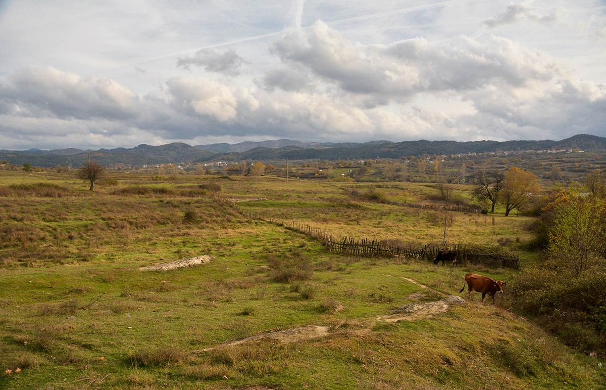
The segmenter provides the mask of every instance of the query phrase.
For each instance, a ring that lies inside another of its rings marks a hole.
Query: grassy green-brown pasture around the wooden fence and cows
[[[441,243],[444,211],[399,204],[431,205],[430,185],[154,179],[112,173],[91,192],[67,173],[0,171],[0,388],[606,386],[602,360],[504,309],[507,292],[496,305],[474,293],[443,314],[379,319],[408,303],[466,298],[465,273],[507,280],[520,271],[341,256],[274,223],[335,239]],[[372,202],[373,193],[390,202]],[[468,197],[465,186],[455,193]],[[521,272],[536,259],[524,251],[531,217],[448,218],[448,243],[499,243],[519,254]],[[213,260],[139,271],[200,255]],[[307,325],[328,335],[220,346]]]

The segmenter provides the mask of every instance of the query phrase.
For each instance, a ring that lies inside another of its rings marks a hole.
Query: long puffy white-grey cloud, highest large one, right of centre
[[[549,81],[561,73],[561,65],[549,56],[508,39],[493,37],[486,45],[468,38],[460,41],[459,47],[423,38],[390,45],[351,44],[318,21],[305,30],[288,31],[273,51],[295,73],[307,70],[347,93],[367,95],[371,99],[365,102],[374,105],[406,102],[427,91],[476,90],[500,80],[510,85]],[[269,87],[280,85],[271,77],[265,80]],[[293,88],[287,84],[284,89]]]

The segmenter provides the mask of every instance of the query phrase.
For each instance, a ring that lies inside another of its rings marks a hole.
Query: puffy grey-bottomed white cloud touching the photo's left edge
[[[14,116],[128,119],[136,116],[139,97],[108,78],[27,67],[0,80],[0,113]]]

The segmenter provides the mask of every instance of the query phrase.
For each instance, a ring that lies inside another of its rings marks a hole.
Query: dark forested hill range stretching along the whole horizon
[[[205,150],[207,148],[208,150]],[[9,164],[36,167],[67,165],[78,167],[89,157],[100,164],[131,166],[168,164],[178,162],[211,162],[254,160],[276,162],[281,160],[353,160],[419,156],[421,154],[486,153],[492,151],[560,150],[579,149],[587,151],[606,150],[606,138],[589,134],[579,134],[567,139],[554,140],[511,140],[505,142],[482,140],[470,142],[416,140],[405,142],[373,141],[365,144],[341,143],[320,144],[291,140],[264,142],[242,142],[241,144],[213,144],[192,147],[173,143],[159,146],[139,145],[135,148],[101,149],[84,151],[61,150],[0,150],[0,160]],[[218,153],[224,150],[223,153]]]

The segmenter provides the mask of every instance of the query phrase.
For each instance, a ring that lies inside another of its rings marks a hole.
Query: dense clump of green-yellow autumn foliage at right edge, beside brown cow
[[[510,283],[511,302],[568,345],[606,354],[606,203],[570,190],[549,198],[547,251]]]

